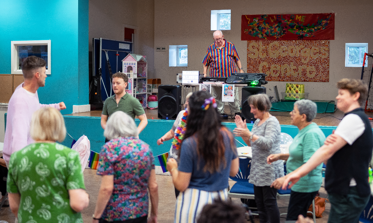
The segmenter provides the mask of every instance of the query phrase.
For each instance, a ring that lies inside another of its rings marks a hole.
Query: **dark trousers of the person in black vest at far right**
[[[330,208],[328,223],[358,223],[370,198],[370,194],[361,197],[357,193],[356,186],[350,187],[347,195],[329,193]]]

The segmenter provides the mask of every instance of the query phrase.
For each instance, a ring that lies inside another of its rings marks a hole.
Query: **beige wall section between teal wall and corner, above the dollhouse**
[[[89,50],[92,38],[124,41],[124,27],[136,28],[135,52],[148,58],[148,77],[154,76],[154,0],[90,0]]]

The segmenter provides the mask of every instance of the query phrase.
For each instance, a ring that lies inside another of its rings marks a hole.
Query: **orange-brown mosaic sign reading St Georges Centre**
[[[247,41],[247,72],[267,81],[329,82],[329,40]]]

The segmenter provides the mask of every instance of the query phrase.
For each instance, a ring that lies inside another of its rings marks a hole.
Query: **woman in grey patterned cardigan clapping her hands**
[[[247,128],[246,120],[239,115],[235,117],[236,136],[241,136],[244,142],[251,146],[253,158],[251,161],[249,183],[254,185],[254,196],[257,203],[260,223],[279,223],[280,212],[277,207],[277,189],[271,188],[273,180],[283,177],[283,162],[281,160],[267,164],[267,157],[280,153],[280,123],[271,114],[271,102],[267,95],[252,95],[248,98],[251,113],[257,120],[253,129]]]

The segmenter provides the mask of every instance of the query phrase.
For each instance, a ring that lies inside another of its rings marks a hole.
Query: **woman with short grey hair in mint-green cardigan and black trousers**
[[[299,128],[297,136],[289,146],[288,154],[271,154],[267,158],[268,164],[286,160],[286,171],[290,173],[303,165],[310,157],[324,145],[325,135],[312,120],[316,117],[317,106],[311,100],[298,100],[290,112],[291,124]],[[280,189],[287,175],[276,179],[271,187]],[[291,188],[286,220],[297,220],[301,214],[307,215],[308,207],[316,196],[322,183],[322,164],[302,177]]]

